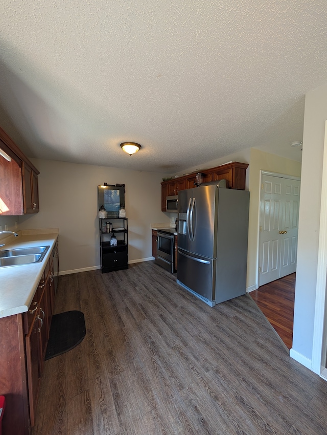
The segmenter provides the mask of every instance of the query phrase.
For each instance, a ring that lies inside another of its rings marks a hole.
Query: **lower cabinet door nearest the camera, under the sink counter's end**
[[[31,426],[34,426],[36,402],[41,377],[40,325],[39,311],[37,310],[30,331],[25,338]]]

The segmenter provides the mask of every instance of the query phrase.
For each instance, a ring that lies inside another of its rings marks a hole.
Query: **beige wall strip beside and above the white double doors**
[[[301,176],[301,163],[285,159],[274,154],[264,153],[251,148],[249,170],[250,212],[247,264],[247,289],[258,288],[258,246],[259,246],[259,206],[260,206],[260,171],[283,173],[295,177]]]

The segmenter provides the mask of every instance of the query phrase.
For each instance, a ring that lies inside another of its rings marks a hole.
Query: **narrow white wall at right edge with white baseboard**
[[[291,356],[312,360],[327,84],[306,94]]]

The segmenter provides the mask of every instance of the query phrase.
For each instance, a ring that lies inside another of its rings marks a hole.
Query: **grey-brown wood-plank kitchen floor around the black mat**
[[[210,308],[154,262],[59,278],[86,336],[44,364],[33,435],[325,435],[327,383],[247,294]]]

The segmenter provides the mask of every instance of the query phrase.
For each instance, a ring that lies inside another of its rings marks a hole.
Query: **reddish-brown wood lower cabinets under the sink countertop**
[[[0,395],[6,397],[2,435],[29,435],[34,426],[53,305],[51,258],[29,311],[0,318]]]

